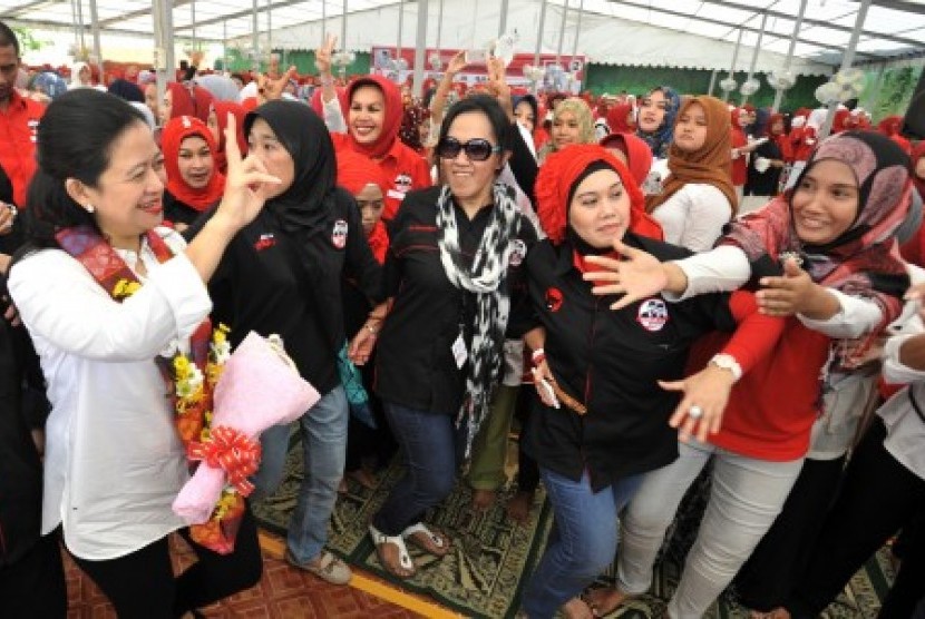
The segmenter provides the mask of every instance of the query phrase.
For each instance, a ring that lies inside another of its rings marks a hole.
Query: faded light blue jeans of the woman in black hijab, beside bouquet
[[[299,563],[318,558],[328,541],[328,521],[347,458],[348,416],[347,395],[338,385],[299,417],[304,476],[286,536],[286,547]],[[263,460],[253,479],[255,497],[272,494],[282,482],[289,435],[290,425],[274,425],[261,435]]]

